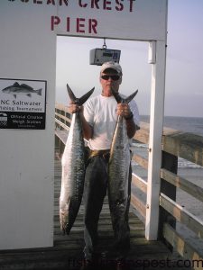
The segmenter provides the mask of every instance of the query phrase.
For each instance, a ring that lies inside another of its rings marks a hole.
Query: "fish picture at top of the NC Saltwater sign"
[[[17,82],[15,82],[14,85],[5,87],[2,92],[6,94],[13,94],[14,98],[16,98],[18,94],[25,94],[31,97],[32,94],[42,95],[42,88],[34,90],[30,85],[19,85]]]

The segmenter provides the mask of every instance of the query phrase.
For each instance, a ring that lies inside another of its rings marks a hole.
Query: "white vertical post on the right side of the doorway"
[[[159,196],[161,188],[161,137],[164,115],[165,90],[165,41],[152,42],[156,52],[155,63],[152,65],[152,91],[150,114],[149,162],[146,201],[145,238],[158,238],[159,227]],[[154,58],[153,58],[154,59]]]

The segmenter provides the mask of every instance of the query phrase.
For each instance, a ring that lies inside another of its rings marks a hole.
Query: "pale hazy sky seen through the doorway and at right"
[[[203,117],[203,1],[169,0],[164,115]],[[56,102],[69,102],[66,84],[78,97],[95,86],[100,94],[99,66],[89,65],[90,49],[103,39],[57,38]],[[107,49],[121,49],[120,92],[135,97],[141,115],[150,114],[152,65],[148,42],[106,40]]]

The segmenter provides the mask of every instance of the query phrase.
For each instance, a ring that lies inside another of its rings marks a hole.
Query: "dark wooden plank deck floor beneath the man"
[[[83,258],[83,206],[69,236],[60,232],[59,196],[60,196],[60,160],[55,160],[54,193],[54,246],[32,249],[5,250],[0,252],[0,269],[79,269]],[[144,224],[134,213],[130,212],[131,250],[128,254],[127,269],[185,269],[177,265],[171,252],[160,241],[147,241],[144,238]],[[101,251],[110,247],[113,230],[107,200],[100,215],[99,248]],[[173,258],[173,260],[172,260]],[[104,259],[103,266],[111,258]],[[109,261],[108,261],[109,262]],[[111,262],[110,262],[111,263]],[[189,268],[187,268],[189,269]]]

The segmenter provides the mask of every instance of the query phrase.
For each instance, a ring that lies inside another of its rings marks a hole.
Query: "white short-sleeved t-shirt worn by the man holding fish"
[[[121,94],[122,97],[125,97]],[[134,122],[139,126],[139,112],[134,100],[129,103],[134,113]],[[88,147],[92,150],[110,149],[117,120],[117,102],[114,96],[99,94],[91,97],[84,105],[84,116],[93,127],[93,138],[88,140]]]

